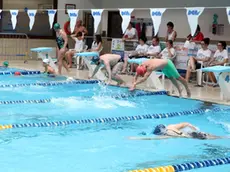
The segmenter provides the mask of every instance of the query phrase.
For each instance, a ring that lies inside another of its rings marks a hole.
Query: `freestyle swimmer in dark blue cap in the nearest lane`
[[[191,131],[185,132],[183,129],[190,128]],[[145,133],[142,133],[146,135]],[[169,138],[190,138],[199,140],[215,140],[226,139],[230,137],[215,136],[212,134],[198,131],[198,129],[190,123],[184,122],[179,124],[172,124],[165,126],[163,124],[157,125],[151,134],[157,135],[157,137],[129,137],[130,140],[161,140]]]

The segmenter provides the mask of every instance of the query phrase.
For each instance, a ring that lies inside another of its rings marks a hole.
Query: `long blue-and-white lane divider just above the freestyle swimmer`
[[[230,110],[230,109],[226,109]],[[221,108],[214,108],[209,110],[212,112],[223,111]],[[136,116],[122,116],[122,117],[111,117],[111,118],[96,118],[96,119],[82,119],[82,120],[66,120],[66,121],[56,121],[56,122],[36,122],[36,123],[26,123],[26,124],[8,124],[0,125],[0,129],[9,128],[28,128],[28,127],[56,127],[56,126],[67,126],[67,125],[80,125],[80,124],[94,124],[94,123],[110,123],[110,122],[120,122],[120,121],[136,121],[143,119],[162,119],[177,116],[193,115],[205,113],[204,109],[187,110],[181,112],[171,112],[171,113],[160,113],[160,114],[147,114],[147,115],[136,115]]]

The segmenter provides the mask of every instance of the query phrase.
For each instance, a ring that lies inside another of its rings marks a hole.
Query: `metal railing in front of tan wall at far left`
[[[27,60],[29,37],[25,33],[0,33],[1,60]]]

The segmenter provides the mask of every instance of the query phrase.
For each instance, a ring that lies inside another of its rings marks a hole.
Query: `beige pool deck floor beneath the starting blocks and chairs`
[[[12,60],[9,61],[9,67],[12,68],[20,68],[26,70],[40,70],[44,71],[42,67],[42,62],[37,60],[29,60],[28,63],[24,63],[22,60]],[[88,78],[88,71],[87,70],[77,70],[76,68],[72,68],[69,73],[65,71],[63,68],[63,75],[68,77],[73,77],[76,79],[87,79]],[[122,75],[122,78],[126,81],[127,86],[130,86],[132,83],[132,76]],[[169,80],[165,81],[166,90],[171,87],[171,83]],[[146,89],[144,84],[141,84],[139,87],[140,89]],[[220,88],[216,87],[195,87],[194,84],[189,84],[189,88],[191,89],[192,99],[213,102],[218,104],[225,104],[230,105],[230,102],[226,102],[221,100],[220,98]],[[149,90],[149,89],[147,89]],[[151,90],[154,91],[154,90]],[[170,93],[171,95],[175,96],[176,94]],[[186,96],[185,92],[183,91],[183,95]]]

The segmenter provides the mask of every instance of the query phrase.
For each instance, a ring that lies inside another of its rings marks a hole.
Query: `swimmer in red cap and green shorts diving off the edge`
[[[136,85],[146,81],[151,75],[152,71],[158,70],[162,70],[162,72],[171,80],[173,85],[177,88],[180,97],[182,96],[182,89],[180,88],[177,81],[180,81],[182,85],[184,85],[187,91],[187,96],[191,97],[191,92],[188,88],[186,80],[180,76],[173,62],[169,59],[151,59],[146,60],[141,65],[139,65],[136,69],[136,75],[133,79],[133,85],[130,88],[130,91],[133,91],[136,88]],[[139,76],[142,76],[143,78],[137,81]]]

